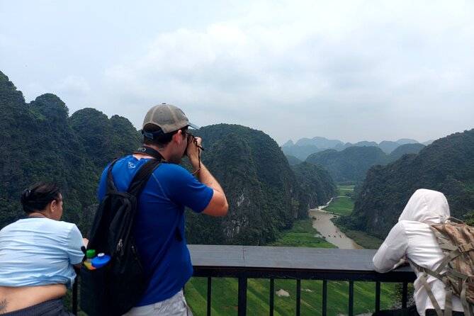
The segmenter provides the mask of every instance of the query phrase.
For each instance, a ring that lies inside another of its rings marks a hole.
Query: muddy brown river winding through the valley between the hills
[[[328,242],[334,244],[340,249],[363,249],[363,247],[347,237],[344,232],[341,232],[339,228],[334,225],[331,220],[331,218],[334,218],[334,215],[332,213],[327,213],[324,210],[331,201],[326,205],[310,210],[310,218],[313,219],[312,227],[320,232],[322,237],[325,237]]]

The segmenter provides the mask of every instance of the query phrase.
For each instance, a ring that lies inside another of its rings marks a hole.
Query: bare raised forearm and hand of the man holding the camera
[[[196,137],[195,140],[197,145],[201,146],[201,138]],[[213,198],[211,198],[208,206],[201,213],[211,216],[226,215],[229,205],[227,204],[224,190],[222,190],[219,182],[210,174],[210,171],[204,166],[203,162],[199,161],[199,149],[192,140],[188,143],[187,155],[191,166],[196,171],[198,181],[214,190]]]

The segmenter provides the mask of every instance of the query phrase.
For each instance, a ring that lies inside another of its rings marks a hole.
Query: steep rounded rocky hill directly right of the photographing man
[[[286,157],[264,132],[240,125],[211,125],[198,130],[203,162],[224,189],[229,203],[225,218],[189,218],[189,239],[203,242],[203,226],[220,226],[222,235],[208,242],[265,244],[293,220],[307,215],[298,201],[298,186]]]

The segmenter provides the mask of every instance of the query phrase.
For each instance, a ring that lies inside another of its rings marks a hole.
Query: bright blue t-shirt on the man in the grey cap
[[[127,191],[133,176],[148,160],[130,155],[115,163],[112,175],[119,191]],[[108,167],[98,187],[99,201],[106,193],[107,171]],[[171,298],[191,278],[193,266],[186,247],[184,207],[200,213],[208,206],[213,193],[212,188],[176,164],[162,163],[154,170],[138,198],[135,215],[135,242],[150,277],[145,295],[137,306]]]

